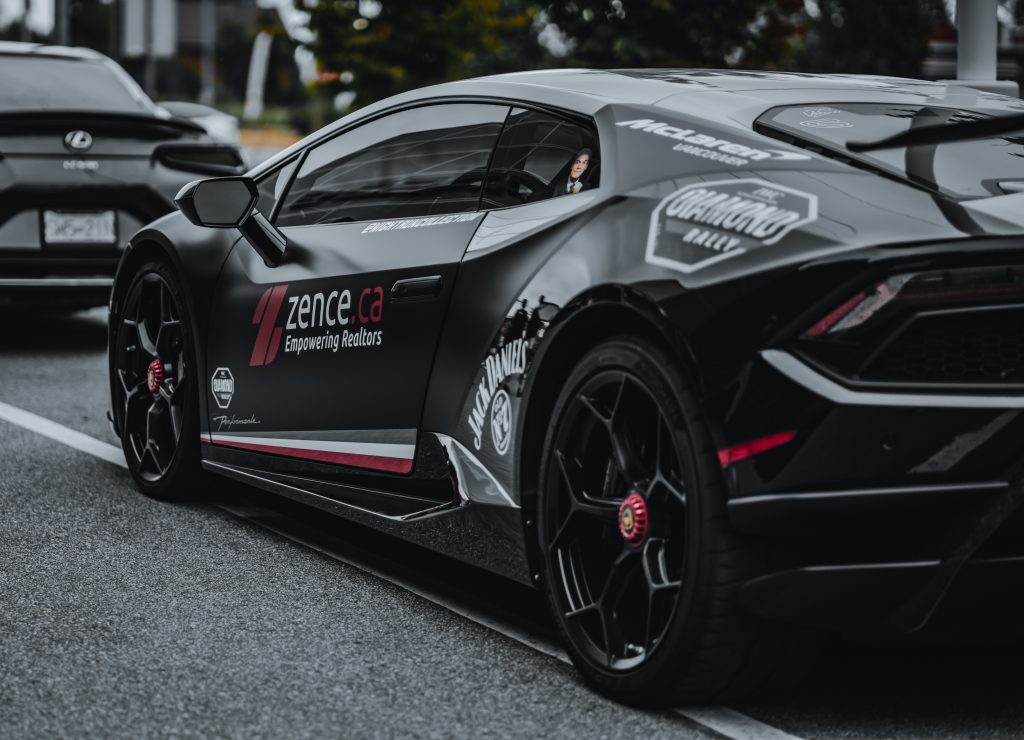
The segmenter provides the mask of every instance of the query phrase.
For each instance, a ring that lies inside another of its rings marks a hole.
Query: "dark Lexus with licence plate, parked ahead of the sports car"
[[[244,169],[102,54],[0,42],[0,308],[105,304],[131,234],[188,180]]]

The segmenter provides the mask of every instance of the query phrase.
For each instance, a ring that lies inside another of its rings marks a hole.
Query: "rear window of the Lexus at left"
[[[154,105],[114,62],[0,56],[0,113],[110,111],[153,114]]]

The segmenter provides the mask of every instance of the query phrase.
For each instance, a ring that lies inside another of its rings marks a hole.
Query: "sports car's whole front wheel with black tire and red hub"
[[[200,384],[188,306],[172,267],[160,259],[142,264],[122,305],[112,328],[111,385],[128,470],[147,496],[195,498],[206,482]]]

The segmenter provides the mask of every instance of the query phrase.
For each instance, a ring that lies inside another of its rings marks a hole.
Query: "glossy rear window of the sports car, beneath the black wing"
[[[931,105],[836,103],[769,111],[758,124],[956,199],[1018,191],[1024,183],[1024,131],[1009,136],[872,151],[850,151],[849,141],[874,141],[911,128],[956,125],[988,114]]]

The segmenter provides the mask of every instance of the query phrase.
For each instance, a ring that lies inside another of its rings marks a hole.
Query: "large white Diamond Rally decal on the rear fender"
[[[650,217],[647,262],[692,272],[773,245],[818,217],[818,199],[758,179],[698,182],[663,200]]]

